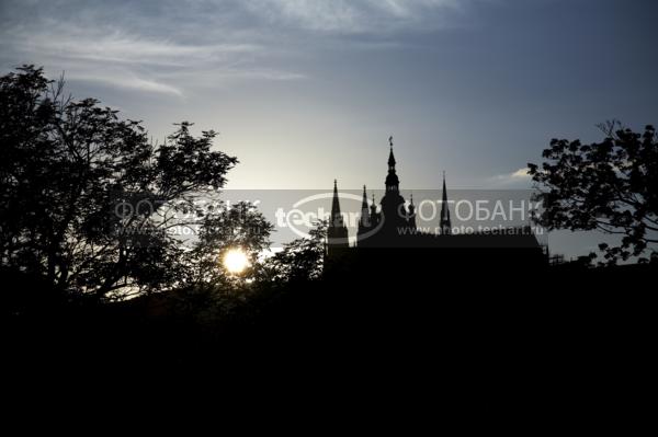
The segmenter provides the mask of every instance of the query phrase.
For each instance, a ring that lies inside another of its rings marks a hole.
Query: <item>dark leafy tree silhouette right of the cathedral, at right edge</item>
[[[548,229],[600,230],[622,235],[620,246],[600,244],[610,263],[650,252],[658,243],[658,136],[653,126],[643,134],[609,122],[600,128],[602,142],[554,139],[540,168],[527,164],[536,183],[537,217]],[[640,262],[646,262],[640,258]]]

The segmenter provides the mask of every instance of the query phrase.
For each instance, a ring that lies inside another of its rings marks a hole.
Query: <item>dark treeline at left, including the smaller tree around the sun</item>
[[[152,143],[139,122],[73,100],[32,66],[0,78],[0,100],[1,268],[13,280],[65,301],[104,303],[174,290],[236,294],[256,288],[245,278],[318,275],[317,239],[260,261],[272,225],[250,204],[220,203],[238,161],[211,150],[214,131],[194,137],[183,122]],[[250,263],[241,278],[220,262],[234,248]]]

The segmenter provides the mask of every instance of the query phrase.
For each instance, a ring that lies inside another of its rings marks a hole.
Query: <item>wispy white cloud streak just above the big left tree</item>
[[[175,36],[146,37],[121,28],[52,27],[3,32],[3,64],[37,62],[66,70],[68,80],[132,91],[182,96],[183,90],[209,77],[296,80],[302,73],[259,67],[263,47],[256,43],[182,43]]]

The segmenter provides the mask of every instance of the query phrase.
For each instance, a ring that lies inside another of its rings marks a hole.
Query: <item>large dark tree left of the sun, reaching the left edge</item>
[[[175,287],[184,246],[171,231],[204,220],[197,199],[237,159],[186,122],[152,145],[140,122],[63,90],[34,66],[0,78],[2,267],[101,299]]]

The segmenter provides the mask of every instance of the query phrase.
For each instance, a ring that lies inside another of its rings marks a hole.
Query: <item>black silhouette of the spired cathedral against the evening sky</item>
[[[373,262],[376,262],[377,268],[400,268],[404,265],[431,268],[436,261],[443,266],[478,268],[537,268],[547,265],[546,251],[530,226],[499,233],[453,232],[445,172],[441,214],[435,223],[438,232],[418,228],[412,195],[407,204],[400,194],[393,137],[388,141],[390,150],[386,191],[377,206],[374,194],[368,204],[364,185],[354,244],[350,244],[348,227],[340,208],[338,182],[333,181],[331,215],[327,229],[327,261],[330,269],[332,265],[344,267],[347,263],[352,263],[363,266]]]

